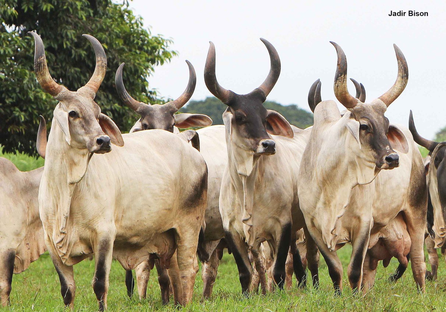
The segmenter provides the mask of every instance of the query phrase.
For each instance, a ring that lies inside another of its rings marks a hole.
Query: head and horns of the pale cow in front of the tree
[[[90,153],[111,151],[111,143],[123,146],[124,141],[116,124],[101,113],[95,103],[95,94],[107,70],[107,58],[99,41],[90,35],[86,37],[95,50],[95,72],[87,84],[77,91],[70,91],[53,80],[46,64],[45,48],[39,35],[34,37],[34,71],[41,87],[59,101],[54,109],[54,120],[62,130],[65,141],[73,148],[87,149]]]

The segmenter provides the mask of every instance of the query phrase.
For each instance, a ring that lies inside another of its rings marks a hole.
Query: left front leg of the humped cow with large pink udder
[[[327,245],[322,239],[322,234],[318,232],[318,230],[309,227],[308,230],[305,231],[305,239],[308,239],[307,236],[311,236],[313,238],[314,242],[319,248],[319,251],[322,254],[322,257],[324,257],[325,263],[327,264],[328,268],[328,274],[330,275],[331,281],[333,282],[333,287],[335,288],[335,296],[341,296],[343,267],[336,251],[331,251],[330,249],[328,249]],[[310,265],[308,250],[309,249],[307,249],[307,260],[308,265]]]

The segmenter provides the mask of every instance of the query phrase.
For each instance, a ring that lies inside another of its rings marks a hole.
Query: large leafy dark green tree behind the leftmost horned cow
[[[95,101],[121,131],[138,116],[122,106],[115,72],[125,62],[125,86],[132,96],[154,103],[146,78],[154,66],[169,61],[171,41],[153,36],[134,16],[128,2],[111,0],[6,0],[0,5],[0,144],[5,152],[35,155],[38,115],[52,118],[57,101],[41,89],[33,69],[36,30],[45,45],[51,76],[69,90],[83,86],[95,68],[95,54],[83,33],[95,36],[107,54],[107,73]],[[158,101],[159,102],[159,101]]]

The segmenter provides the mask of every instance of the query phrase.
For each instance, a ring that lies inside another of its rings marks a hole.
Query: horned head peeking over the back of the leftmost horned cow
[[[127,90],[125,90],[124,82],[122,80],[122,70],[124,63],[122,63],[116,71],[115,84],[116,90],[122,101],[141,115],[141,118],[135,123],[130,132],[148,130],[148,129],[164,129],[173,132],[173,127],[188,128],[188,127],[206,127],[212,124],[212,119],[209,116],[202,114],[175,114],[184,104],[189,101],[194,93],[197,77],[195,75],[194,66],[186,61],[189,66],[189,83],[186,90],[181,96],[171,102],[165,104],[149,105],[133,99]]]

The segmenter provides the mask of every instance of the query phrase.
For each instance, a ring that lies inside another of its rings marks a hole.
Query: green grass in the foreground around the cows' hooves
[[[338,251],[344,264],[344,291],[341,297],[333,296],[333,287],[327,267],[321,257],[319,266],[321,285],[318,290],[311,286],[298,289],[293,282],[291,291],[276,291],[261,296],[253,294],[248,298],[241,295],[238,272],[232,255],[225,254],[219,267],[219,274],[210,300],[201,300],[201,271],[197,275],[193,303],[176,308],[171,299],[168,306],[161,305],[161,296],[157,284],[156,270],[150,276],[148,296],[139,300],[137,293],[133,298],[127,297],[124,285],[124,269],[113,261],[110,273],[110,290],[108,293],[109,311],[431,311],[446,308],[446,267],[440,261],[436,282],[427,282],[426,294],[417,293],[408,269],[403,278],[396,283],[389,283],[387,277],[397,266],[395,259],[387,268],[380,265],[375,287],[366,295],[353,295],[347,282],[347,263],[351,247],[345,246]],[[74,266],[76,280],[75,311],[96,311],[97,303],[91,278],[94,261],[84,260]],[[58,276],[51,259],[45,253],[32,263],[29,269],[14,275],[12,282],[11,306],[0,311],[63,311]]]

